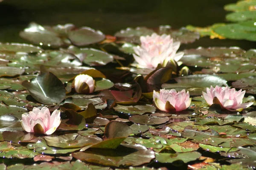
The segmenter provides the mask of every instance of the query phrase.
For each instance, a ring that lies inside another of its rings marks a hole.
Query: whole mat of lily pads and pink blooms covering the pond
[[[0,43],[0,169],[255,169],[256,50],[179,50],[248,40],[252,6],[227,5],[238,23],[208,28],[30,23],[33,45]]]

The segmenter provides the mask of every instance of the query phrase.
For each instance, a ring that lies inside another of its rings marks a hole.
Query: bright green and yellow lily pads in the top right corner
[[[226,15],[226,20],[233,23],[215,23],[205,28],[186,28],[211,38],[256,41],[256,0],[239,0],[237,3],[227,4],[224,9],[232,11]]]

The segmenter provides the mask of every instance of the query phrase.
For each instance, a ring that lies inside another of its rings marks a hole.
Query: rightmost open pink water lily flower
[[[245,91],[241,89],[236,91],[235,88],[221,88],[216,85],[215,88],[206,89],[207,93],[203,92],[205,101],[209,104],[219,104],[222,108],[230,111],[242,111],[244,108],[248,108],[253,105],[253,102],[242,103]]]

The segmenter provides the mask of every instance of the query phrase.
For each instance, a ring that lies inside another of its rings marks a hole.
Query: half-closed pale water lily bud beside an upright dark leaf
[[[79,74],[74,79],[74,87],[76,93],[79,94],[93,93],[95,89],[95,81],[93,80],[93,77],[90,77],[87,74]]]

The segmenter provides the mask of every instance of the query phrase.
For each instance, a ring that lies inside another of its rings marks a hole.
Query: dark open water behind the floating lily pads
[[[4,0],[0,3],[0,42],[26,42],[18,36],[30,22],[41,25],[73,23],[105,34],[126,27],[171,25],[209,26],[227,22],[223,6],[236,0]],[[202,38],[181,48],[240,46],[255,48],[243,40]]]

